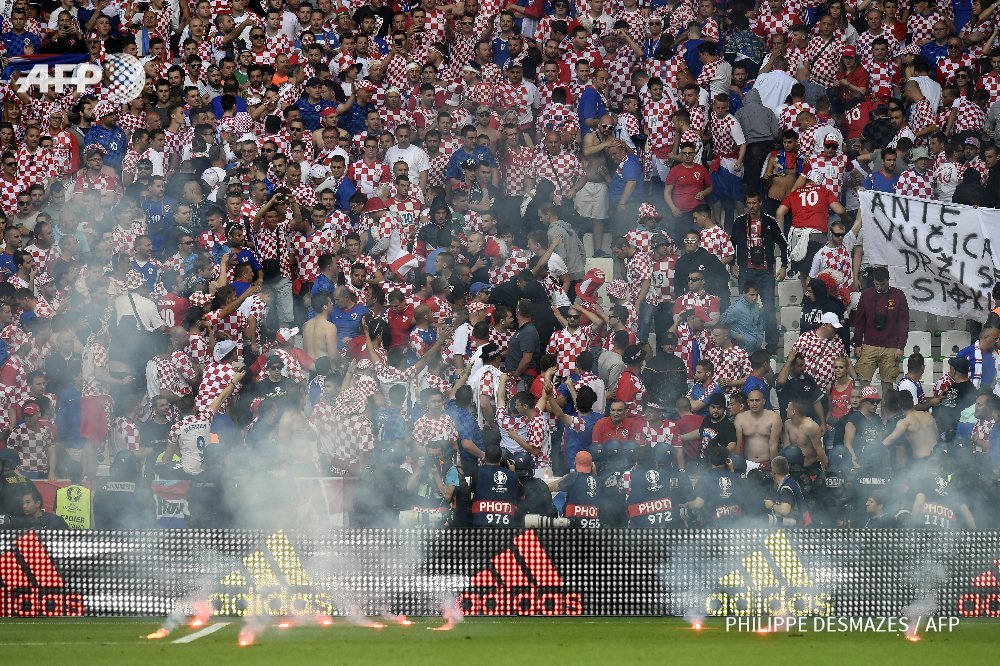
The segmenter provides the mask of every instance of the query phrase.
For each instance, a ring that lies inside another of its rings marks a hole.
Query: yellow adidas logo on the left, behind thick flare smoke
[[[330,615],[333,597],[316,592],[313,579],[283,532],[243,558],[242,567],[219,580],[209,595],[213,615]]]

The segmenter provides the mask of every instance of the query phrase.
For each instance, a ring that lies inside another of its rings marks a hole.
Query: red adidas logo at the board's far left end
[[[83,615],[83,596],[64,592],[63,585],[38,535],[21,535],[13,550],[0,555],[0,617]]]

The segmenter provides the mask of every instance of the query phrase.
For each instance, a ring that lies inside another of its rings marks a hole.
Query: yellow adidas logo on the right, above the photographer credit
[[[833,597],[812,589],[809,572],[783,532],[764,539],[764,547],[719,578],[719,586],[722,591],[705,598],[708,615],[833,614]]]

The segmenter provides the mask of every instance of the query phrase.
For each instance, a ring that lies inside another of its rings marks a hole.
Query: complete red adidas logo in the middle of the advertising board
[[[534,531],[493,556],[458,597],[466,615],[582,615],[583,597],[566,584]]]

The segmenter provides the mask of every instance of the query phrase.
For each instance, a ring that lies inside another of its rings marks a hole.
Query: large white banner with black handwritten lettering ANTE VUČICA
[[[986,319],[1000,282],[1000,211],[866,191],[861,217],[867,262],[889,267],[911,309]]]

